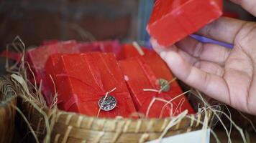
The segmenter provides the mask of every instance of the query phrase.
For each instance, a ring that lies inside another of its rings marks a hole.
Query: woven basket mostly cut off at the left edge
[[[15,106],[16,92],[14,87],[5,77],[0,77],[0,143],[12,142]]]

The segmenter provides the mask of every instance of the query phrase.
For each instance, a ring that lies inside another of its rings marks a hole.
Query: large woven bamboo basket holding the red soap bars
[[[37,142],[147,142],[201,129],[206,118],[209,126],[214,121],[211,110],[186,115],[182,119],[101,119],[49,109],[24,99],[18,106],[34,130]],[[167,129],[173,121],[177,123]]]

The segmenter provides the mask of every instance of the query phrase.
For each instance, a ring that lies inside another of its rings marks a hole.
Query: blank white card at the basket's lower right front
[[[184,134],[178,134],[172,137],[166,137],[161,140],[161,143],[209,143],[210,142],[210,129],[198,130]],[[147,143],[159,143],[159,140],[150,141]]]

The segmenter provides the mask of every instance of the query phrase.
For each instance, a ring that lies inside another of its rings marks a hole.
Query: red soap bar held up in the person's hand
[[[155,0],[147,32],[170,46],[222,14],[222,0]]]

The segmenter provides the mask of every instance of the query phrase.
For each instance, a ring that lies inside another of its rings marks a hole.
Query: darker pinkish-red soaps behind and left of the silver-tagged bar
[[[47,41],[36,49],[27,51],[27,61],[35,74],[36,82],[42,80],[42,93],[47,104],[52,102],[52,95],[48,83],[45,82],[45,62],[51,54],[78,54],[88,51],[119,52],[121,46],[118,41],[96,41],[78,43],[76,41]],[[29,73],[29,72],[28,72]],[[32,80],[33,82],[33,80]]]

